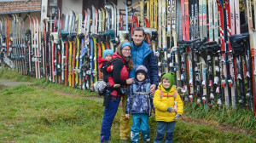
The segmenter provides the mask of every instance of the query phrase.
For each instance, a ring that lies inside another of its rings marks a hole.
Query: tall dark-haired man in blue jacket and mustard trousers
[[[133,69],[130,71],[129,78],[135,77],[135,71],[137,66],[146,66],[148,69],[147,77],[150,79],[152,84],[149,88],[149,93],[154,94],[154,91],[159,83],[158,78],[158,67],[154,51],[149,48],[150,44],[144,41],[145,34],[141,27],[137,27],[133,30],[131,36],[133,42],[131,42],[131,58],[133,61]],[[126,106],[127,94],[122,98],[123,112],[120,117],[120,139],[124,142],[129,138],[129,119],[125,117],[125,106]]]

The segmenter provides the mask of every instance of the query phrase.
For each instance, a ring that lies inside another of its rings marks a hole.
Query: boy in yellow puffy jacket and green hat
[[[158,89],[154,93],[155,120],[157,132],[154,143],[161,143],[166,132],[166,143],[172,143],[175,121],[183,114],[183,101],[173,87],[171,73],[164,73]]]

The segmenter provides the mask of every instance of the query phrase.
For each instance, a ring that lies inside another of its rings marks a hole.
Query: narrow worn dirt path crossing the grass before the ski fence
[[[4,89],[5,87],[14,87],[14,86],[18,86],[20,84],[32,85],[32,83],[29,83],[29,82],[13,82],[10,80],[0,79],[0,85],[2,85],[0,89]],[[34,86],[34,87],[36,87],[38,89],[45,89],[45,88],[38,87],[38,86]],[[58,90],[56,92],[58,92],[61,95],[66,95],[66,96],[78,96],[77,94],[70,94],[70,93],[63,92],[61,90]],[[90,96],[90,97],[84,97],[84,98],[103,102],[102,98],[99,98],[96,96]],[[191,119],[191,118],[185,117],[185,116],[183,116],[181,118],[181,120],[183,120],[186,123],[196,123],[196,124],[201,124],[201,125],[206,125],[206,126],[211,126],[211,127],[214,126],[215,128],[222,130],[224,132],[231,131],[231,132],[236,132],[236,133],[240,133],[240,134],[253,134],[253,130],[241,129],[241,128],[237,128],[237,127],[223,124],[223,123],[212,123],[212,122],[204,121],[202,119],[194,120],[194,119]]]

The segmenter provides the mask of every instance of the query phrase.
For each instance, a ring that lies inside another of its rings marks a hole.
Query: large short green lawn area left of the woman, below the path
[[[99,137],[102,106],[27,85],[3,89],[0,142],[83,142]]]

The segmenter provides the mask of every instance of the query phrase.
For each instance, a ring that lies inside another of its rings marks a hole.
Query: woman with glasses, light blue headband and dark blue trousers
[[[120,43],[117,52],[112,54],[112,59],[119,58],[119,60],[113,61],[113,81],[116,84],[120,84],[122,88],[125,88],[127,84],[133,83],[133,78],[129,78],[129,71],[132,69],[131,60],[131,43]],[[105,106],[104,115],[102,119],[102,131],[101,142],[107,142],[111,136],[111,126],[113,118],[119,107],[121,94],[117,90],[113,90],[111,93],[111,100],[109,100],[108,106]]]

